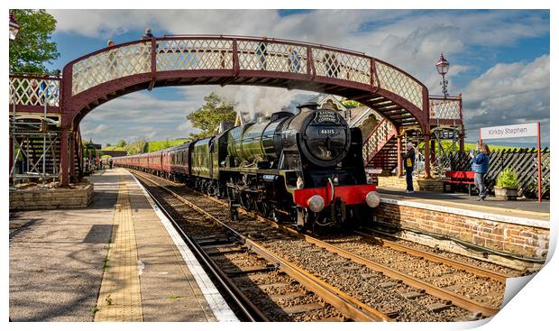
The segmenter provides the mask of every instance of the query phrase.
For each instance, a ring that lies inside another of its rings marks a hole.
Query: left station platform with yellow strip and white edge
[[[89,177],[80,209],[10,213],[12,321],[236,321],[125,170]]]

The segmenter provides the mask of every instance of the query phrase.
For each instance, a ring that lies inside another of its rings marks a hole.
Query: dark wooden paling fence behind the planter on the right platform
[[[450,169],[472,170],[472,158],[466,152],[453,152],[449,155]],[[549,198],[550,180],[549,149],[542,150],[542,197]],[[495,186],[499,172],[512,168],[518,176],[518,195],[530,198],[537,197],[537,150],[536,148],[520,148],[490,153],[490,168],[485,176],[485,183],[490,190]]]

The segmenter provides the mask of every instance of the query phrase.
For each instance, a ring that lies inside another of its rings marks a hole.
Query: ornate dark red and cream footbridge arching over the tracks
[[[95,51],[64,67],[57,92],[61,184],[67,184],[69,177],[68,134],[77,132],[79,122],[96,106],[141,89],[212,84],[285,87],[347,97],[375,109],[397,128],[418,127],[429,139],[427,88],[387,62],[299,41],[165,36]],[[16,79],[11,78],[14,100],[28,93],[15,85]],[[35,107],[43,110],[41,105],[14,105],[30,112]]]

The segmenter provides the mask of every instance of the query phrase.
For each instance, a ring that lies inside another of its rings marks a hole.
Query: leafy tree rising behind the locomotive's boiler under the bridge
[[[194,139],[208,137],[215,133],[220,122],[234,122],[236,112],[234,103],[225,101],[214,92],[204,97],[206,104],[187,116],[192,125],[201,133],[190,133]]]

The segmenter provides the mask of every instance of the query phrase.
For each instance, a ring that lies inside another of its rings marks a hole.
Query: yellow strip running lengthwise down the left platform
[[[128,187],[120,177],[107,267],[97,299],[96,322],[143,321],[138,252]]]

